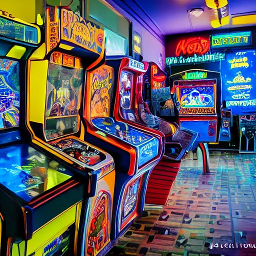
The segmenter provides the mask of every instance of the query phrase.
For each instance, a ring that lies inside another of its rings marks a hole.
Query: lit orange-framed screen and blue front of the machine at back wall
[[[199,132],[199,142],[215,142],[216,80],[174,81],[173,84],[180,126]]]

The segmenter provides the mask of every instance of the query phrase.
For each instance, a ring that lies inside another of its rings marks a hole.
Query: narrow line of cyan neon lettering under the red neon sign
[[[200,62],[214,62],[225,59],[225,53],[214,52],[213,54],[203,54],[197,56],[196,54],[193,57],[166,57],[166,65],[182,65],[182,64],[191,64],[191,63],[200,63]]]

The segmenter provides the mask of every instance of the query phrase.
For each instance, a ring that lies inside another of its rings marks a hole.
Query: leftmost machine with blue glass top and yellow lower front
[[[24,132],[25,62],[40,41],[37,25],[0,14],[1,255],[48,255],[53,245],[62,255],[74,251],[83,184]]]

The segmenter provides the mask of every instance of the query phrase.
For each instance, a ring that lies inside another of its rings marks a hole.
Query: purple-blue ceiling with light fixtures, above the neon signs
[[[147,16],[162,34],[188,33],[212,29],[210,25],[211,10],[204,0],[119,0],[129,5],[136,5],[136,12]],[[228,0],[229,15],[238,13],[256,13],[256,0]],[[199,17],[194,17],[187,10],[203,8]],[[134,9],[133,9],[134,10]],[[138,11],[139,10],[139,11]],[[255,24],[254,24],[255,25]],[[221,28],[234,27],[230,25]]]

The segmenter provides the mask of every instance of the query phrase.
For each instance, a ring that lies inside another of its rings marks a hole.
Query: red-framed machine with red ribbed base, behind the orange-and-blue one
[[[139,65],[143,66],[140,70],[137,68]],[[157,67],[156,64],[153,67]],[[163,158],[154,167],[149,176],[145,195],[145,202],[147,204],[164,205],[172,182],[177,174],[180,159],[192,147],[197,133],[180,129],[176,123],[165,121],[150,112],[142,96],[143,80],[147,74],[145,71],[149,68],[151,66],[149,66],[148,62],[140,63],[130,58],[122,58],[119,66],[119,88],[117,90],[117,93],[119,93],[116,95],[115,116],[117,120],[126,121],[138,127],[144,127],[144,129],[154,129],[154,132],[160,131],[164,134],[165,148]],[[159,73],[159,71],[160,69],[157,70],[158,79],[155,82],[160,89],[163,89],[166,74],[164,72]],[[128,86],[125,84],[127,80],[130,83]],[[161,93],[161,97],[164,97],[164,93]],[[169,98],[170,93],[168,93]]]

